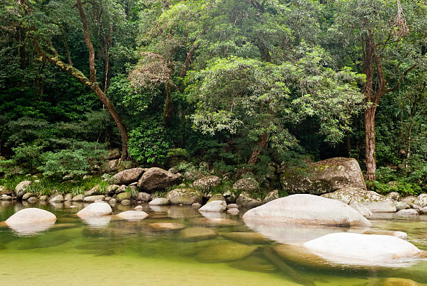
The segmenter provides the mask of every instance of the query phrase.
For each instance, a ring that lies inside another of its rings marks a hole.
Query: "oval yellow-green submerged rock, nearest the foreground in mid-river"
[[[206,263],[230,262],[242,259],[257,249],[240,243],[227,243],[204,248],[196,255],[196,259]]]

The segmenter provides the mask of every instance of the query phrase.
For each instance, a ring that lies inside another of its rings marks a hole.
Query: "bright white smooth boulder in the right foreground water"
[[[338,264],[393,266],[421,255],[421,250],[412,243],[379,234],[327,234],[304,243],[304,247]]]

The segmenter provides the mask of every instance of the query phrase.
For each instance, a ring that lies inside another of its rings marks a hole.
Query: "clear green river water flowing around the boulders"
[[[144,211],[150,216],[144,220],[126,221],[112,216],[82,221],[75,213],[83,204],[31,206],[52,211],[57,222],[35,234],[0,226],[0,285],[382,285],[383,278],[390,277],[409,278],[427,285],[426,260],[387,269],[307,269],[282,259],[283,267],[264,255],[264,250],[277,241],[304,242],[320,236],[320,232],[329,232],[328,229],[315,229],[313,233],[313,229],[283,228],[274,229],[271,235],[271,229],[265,232],[260,229],[264,236],[276,241],[254,245],[255,251],[243,259],[211,263],[206,249],[218,246],[213,249],[220,250],[222,245],[237,243],[221,234],[253,232],[239,216],[223,215],[226,220],[209,220],[191,207],[145,205]],[[24,207],[30,205],[0,201],[0,221]],[[128,209],[133,206],[119,205],[113,214]],[[408,241],[427,250],[426,215],[396,218],[394,214],[377,214],[370,221],[373,223],[370,230],[407,232]],[[202,241],[185,241],[177,231],[158,232],[148,227],[149,223],[165,222],[209,227],[220,235]]]

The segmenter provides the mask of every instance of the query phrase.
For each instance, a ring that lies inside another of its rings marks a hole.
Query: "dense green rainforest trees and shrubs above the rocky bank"
[[[102,172],[120,147],[130,165],[204,161],[263,181],[271,164],[351,156],[370,188],[419,193],[426,8],[0,0],[0,173]]]

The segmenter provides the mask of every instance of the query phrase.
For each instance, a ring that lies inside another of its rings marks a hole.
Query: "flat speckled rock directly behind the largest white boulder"
[[[394,201],[387,199],[384,195],[373,192],[372,190],[364,190],[361,188],[342,188],[333,193],[322,195],[329,199],[340,200],[345,204],[357,202],[361,206],[366,206],[372,212],[395,213],[396,206]]]

